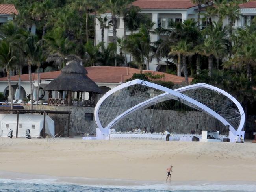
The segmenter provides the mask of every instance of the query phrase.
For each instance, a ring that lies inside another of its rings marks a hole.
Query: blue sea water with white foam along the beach
[[[74,178],[73,178],[74,179]],[[117,183],[120,183],[118,180]],[[98,179],[97,183],[101,183]],[[127,182],[124,182],[127,184]],[[188,184],[186,184],[188,183]],[[256,192],[256,183],[159,182],[136,185],[86,185],[59,179],[0,179],[0,192]]]

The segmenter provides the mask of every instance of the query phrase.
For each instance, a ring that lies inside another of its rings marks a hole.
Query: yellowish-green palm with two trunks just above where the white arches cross
[[[188,43],[186,40],[180,40],[176,46],[171,48],[171,55],[178,55],[178,69],[177,74],[181,76],[181,57],[182,57],[182,65],[183,65],[183,72],[185,81],[188,84],[188,73],[187,73],[187,62],[186,57],[191,56],[194,54],[192,51],[193,44],[190,42]]]

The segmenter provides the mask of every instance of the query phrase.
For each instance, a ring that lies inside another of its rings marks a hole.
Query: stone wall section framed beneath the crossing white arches
[[[217,129],[222,133],[226,130],[226,127],[219,120],[202,112],[153,109],[145,109],[130,114],[113,127],[121,131],[146,127],[147,131],[153,128],[156,132],[169,130],[172,133],[190,133],[191,129],[195,129],[198,133],[200,129]]]

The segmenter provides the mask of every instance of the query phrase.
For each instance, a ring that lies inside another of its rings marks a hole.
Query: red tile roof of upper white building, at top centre
[[[189,9],[197,6],[190,0],[137,0],[132,4],[141,9]]]

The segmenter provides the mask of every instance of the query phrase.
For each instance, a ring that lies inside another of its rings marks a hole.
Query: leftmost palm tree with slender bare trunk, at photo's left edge
[[[13,63],[15,59],[16,59],[16,56],[13,55],[10,44],[7,41],[1,41],[0,42],[0,65],[6,68],[11,109],[13,109],[13,91],[11,87],[10,70],[13,69]]]

